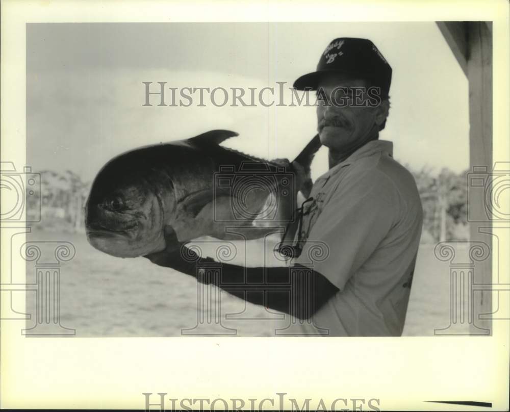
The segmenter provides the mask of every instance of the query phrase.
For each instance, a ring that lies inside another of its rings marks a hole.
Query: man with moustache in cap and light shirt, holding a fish
[[[339,38],[328,44],[317,71],[294,83],[317,91],[329,170],[303,203],[289,268],[223,264],[220,279],[205,280],[196,264],[212,260],[185,259],[171,230],[167,250],[147,257],[253,303],[313,319],[302,322],[303,334],[400,336],[422,209],[412,175],[392,158],[392,143],[378,140],[389,112],[391,74],[371,41]],[[321,258],[314,260],[317,247]],[[232,290],[244,273],[247,284]],[[290,284],[290,294],[278,291],[278,284]]]

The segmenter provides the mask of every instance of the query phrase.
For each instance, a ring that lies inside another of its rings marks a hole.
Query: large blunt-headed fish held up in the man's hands
[[[165,226],[181,242],[202,236],[239,240],[236,233],[252,239],[280,230],[293,219],[297,191],[310,191],[309,178],[296,182],[294,176],[296,168],[309,176],[320,140],[315,136],[294,162],[282,164],[219,145],[234,136],[214,130],[109,161],[85,207],[89,243],[114,256],[136,257],[165,248]]]

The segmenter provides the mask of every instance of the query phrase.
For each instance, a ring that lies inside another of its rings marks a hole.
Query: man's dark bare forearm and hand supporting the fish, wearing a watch
[[[323,275],[307,266],[257,267],[221,264],[221,276],[200,276],[197,265],[207,266],[218,262],[201,258],[191,249],[176,241],[173,230],[167,230],[167,249],[146,255],[152,263],[186,273],[197,280],[216,285],[228,293],[248,302],[288,313],[298,319],[310,318],[339,289]],[[173,247],[171,246],[173,244]],[[186,256],[186,259],[183,257]],[[246,274],[246,282],[240,283]],[[248,293],[258,291],[263,293]]]

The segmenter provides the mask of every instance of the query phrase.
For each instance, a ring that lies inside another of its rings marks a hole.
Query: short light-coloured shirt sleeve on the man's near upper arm
[[[342,180],[323,205],[295,261],[312,266],[340,290],[388,235],[398,216],[398,193],[384,174],[371,171]]]

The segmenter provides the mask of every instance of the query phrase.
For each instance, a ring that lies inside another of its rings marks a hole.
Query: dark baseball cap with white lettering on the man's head
[[[367,39],[340,37],[331,41],[322,53],[317,70],[302,75],[294,82],[297,90],[317,90],[326,74],[341,73],[353,78],[367,79],[388,96],[391,84],[391,66],[378,48]]]

